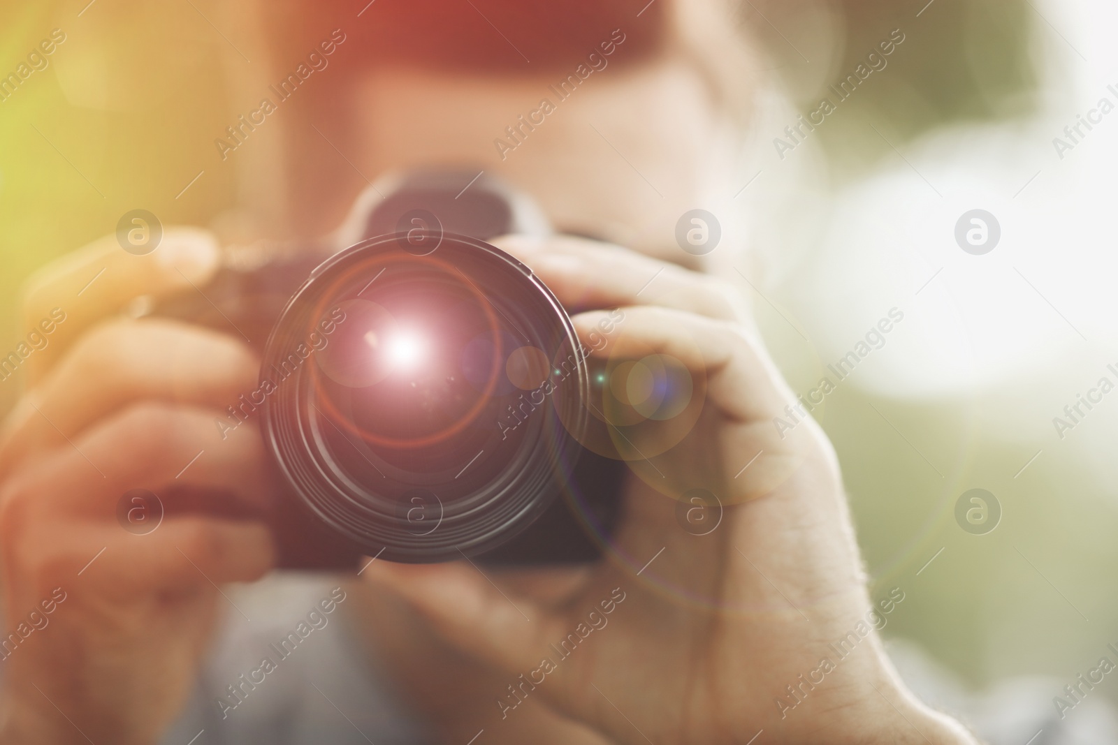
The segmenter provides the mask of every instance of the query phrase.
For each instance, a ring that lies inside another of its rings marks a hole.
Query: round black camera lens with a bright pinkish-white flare
[[[332,532],[437,562],[505,543],[551,504],[589,378],[570,318],[523,265],[440,231],[437,250],[407,250],[415,232],[353,246],[295,294],[265,351],[263,432]]]

